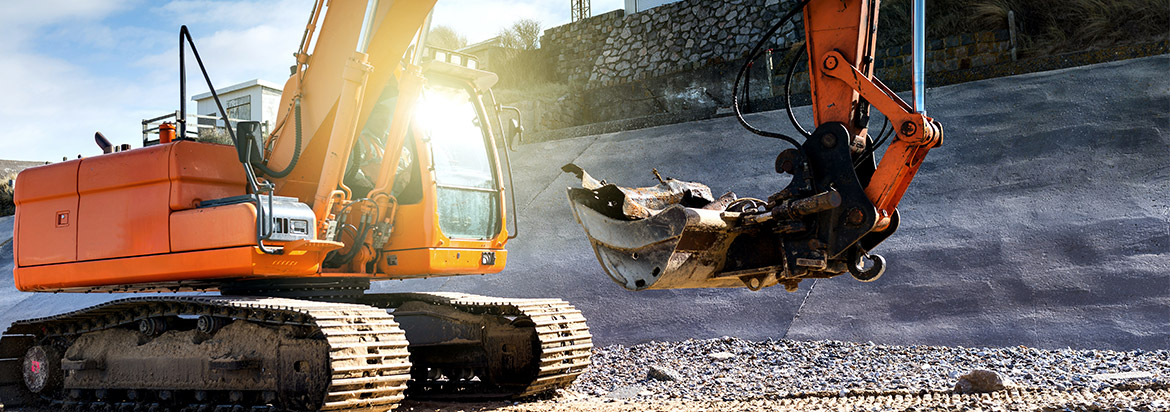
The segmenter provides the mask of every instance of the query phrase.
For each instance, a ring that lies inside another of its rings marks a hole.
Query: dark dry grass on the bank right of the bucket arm
[[[1007,29],[1016,14],[1023,55],[1078,52],[1166,39],[1170,5],[1165,0],[931,0],[927,36]],[[882,2],[879,47],[910,41],[910,1]]]

